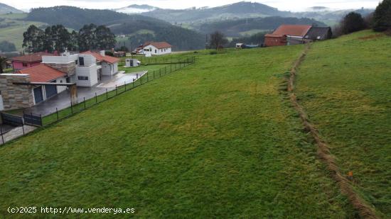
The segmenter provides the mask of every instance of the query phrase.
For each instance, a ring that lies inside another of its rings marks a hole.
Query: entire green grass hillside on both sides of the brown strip
[[[387,218],[390,55],[377,47],[391,40],[373,35],[314,43],[296,92],[355,189]],[[358,218],[285,91],[303,50],[191,53],[195,64],[7,143],[0,215],[105,206],[139,218]]]

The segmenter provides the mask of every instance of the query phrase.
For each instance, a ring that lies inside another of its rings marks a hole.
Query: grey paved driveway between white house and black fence
[[[124,83],[131,83],[139,79],[146,72],[134,72],[132,74],[124,74],[124,72],[119,72],[113,76],[102,76],[102,80],[99,84],[91,87],[82,87],[77,86],[77,100],[78,102],[84,101],[84,98],[92,99],[95,98],[95,93],[99,96],[100,94],[105,94],[107,91],[112,91],[115,89],[115,86],[122,86]],[[33,113],[36,115],[47,116],[51,113],[55,113],[55,108],[58,108],[58,111],[63,108],[70,107],[70,91],[67,89],[60,94],[53,96],[50,99],[39,103],[36,106],[31,108],[26,108],[24,111],[26,113]]]

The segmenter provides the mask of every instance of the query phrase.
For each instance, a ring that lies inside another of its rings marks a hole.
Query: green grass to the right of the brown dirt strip
[[[301,104],[343,173],[391,218],[391,37],[372,31],[316,43],[299,69]]]

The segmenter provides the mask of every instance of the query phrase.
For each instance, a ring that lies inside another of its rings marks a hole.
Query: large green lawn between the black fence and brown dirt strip
[[[0,147],[1,212],[105,206],[135,208],[141,218],[354,217],[279,91],[302,50],[201,52],[185,69]]]

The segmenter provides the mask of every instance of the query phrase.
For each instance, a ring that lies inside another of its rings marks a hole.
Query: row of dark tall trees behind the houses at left
[[[93,23],[83,26],[79,32],[69,32],[62,25],[48,26],[45,30],[31,25],[23,33],[23,47],[27,52],[107,50],[116,43],[109,28]]]

